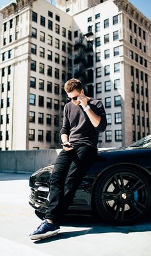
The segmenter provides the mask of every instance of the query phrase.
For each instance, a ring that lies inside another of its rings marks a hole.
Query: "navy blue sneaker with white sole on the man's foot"
[[[32,240],[44,239],[51,237],[51,235],[56,235],[58,232],[60,232],[60,226],[58,224],[48,223],[47,219],[45,219],[29,237]]]

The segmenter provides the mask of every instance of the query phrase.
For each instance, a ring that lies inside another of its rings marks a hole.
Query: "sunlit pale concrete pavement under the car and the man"
[[[40,219],[28,205],[28,174],[0,173],[0,255],[150,256],[151,221],[111,226],[90,217],[65,217],[58,235],[42,241],[28,237]]]

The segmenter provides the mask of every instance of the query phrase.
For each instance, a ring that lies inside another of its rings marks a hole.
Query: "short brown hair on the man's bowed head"
[[[72,78],[65,83],[64,89],[66,93],[72,93],[75,89],[80,92],[83,89],[83,84],[80,80]]]

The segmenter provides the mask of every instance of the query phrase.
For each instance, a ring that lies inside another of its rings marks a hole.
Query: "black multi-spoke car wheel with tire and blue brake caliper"
[[[100,217],[118,225],[133,224],[151,207],[150,183],[132,167],[116,167],[99,179],[94,203]]]

